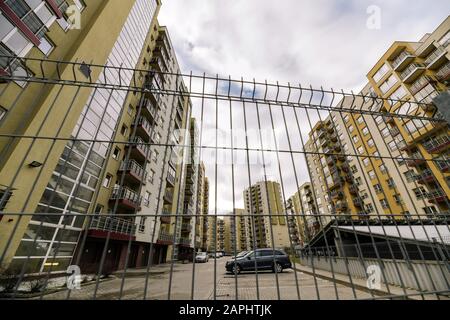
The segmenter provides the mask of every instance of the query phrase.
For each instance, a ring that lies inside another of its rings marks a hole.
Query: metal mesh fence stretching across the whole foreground
[[[434,93],[20,63],[40,72],[0,85],[3,297],[448,298]]]

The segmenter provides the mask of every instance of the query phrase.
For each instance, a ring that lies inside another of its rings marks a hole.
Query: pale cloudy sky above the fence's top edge
[[[366,27],[370,5],[380,30]],[[393,41],[419,40],[448,9],[445,0],[167,0],[160,22],[184,72],[351,90]]]

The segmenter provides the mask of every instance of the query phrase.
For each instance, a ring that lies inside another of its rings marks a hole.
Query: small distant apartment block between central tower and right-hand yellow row
[[[320,230],[317,205],[317,198],[309,182],[303,183],[287,201],[286,210],[292,226],[289,234],[299,245],[307,243]]]

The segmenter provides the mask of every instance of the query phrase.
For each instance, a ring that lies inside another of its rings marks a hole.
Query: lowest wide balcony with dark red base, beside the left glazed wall
[[[113,240],[135,240],[136,224],[130,220],[114,216],[94,216],[88,227],[88,234],[94,238],[109,238]]]

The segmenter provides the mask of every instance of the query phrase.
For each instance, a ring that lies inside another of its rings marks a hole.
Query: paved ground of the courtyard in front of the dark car
[[[156,266],[148,277],[146,299],[339,299],[369,298],[370,294],[356,291],[343,285],[334,285],[330,281],[314,279],[313,276],[285,270],[275,275],[260,272],[257,275],[242,273],[235,277],[225,272],[227,258],[211,259],[208,263],[196,264],[195,274],[192,264],[173,264]],[[214,272],[216,270],[216,272]],[[96,299],[143,299],[146,270],[129,270],[129,276],[114,278],[99,284]],[[172,277],[170,276],[172,274]],[[194,290],[192,295],[192,276]],[[214,276],[215,275],[215,276]],[[237,297],[236,297],[237,281]],[[278,282],[277,282],[278,281]],[[214,283],[216,284],[214,286]],[[297,285],[298,284],[298,285]],[[121,290],[122,287],[122,290]],[[318,291],[318,293],[317,293]],[[72,290],[70,299],[92,299],[95,285],[85,285],[80,290]],[[44,296],[44,299],[66,299],[67,291]]]

